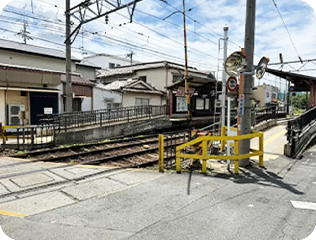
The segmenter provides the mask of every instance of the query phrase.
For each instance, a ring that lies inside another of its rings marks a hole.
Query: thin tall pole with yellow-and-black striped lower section
[[[187,64],[187,41],[186,41],[186,22],[185,22],[185,0],[182,0],[183,5],[183,32],[184,32],[184,54],[185,54],[185,94],[187,101],[187,120],[189,123],[189,130],[191,132],[191,106],[190,106],[190,93],[189,83],[187,81],[189,76],[188,64]],[[190,136],[190,135],[189,135]]]

